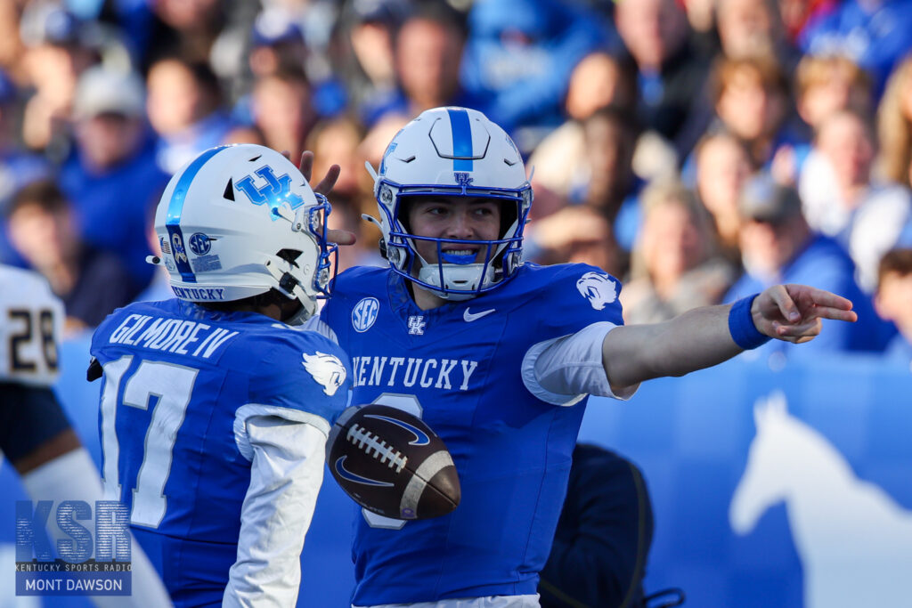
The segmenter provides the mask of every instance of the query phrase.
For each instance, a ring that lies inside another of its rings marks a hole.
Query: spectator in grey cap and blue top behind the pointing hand
[[[881,350],[886,345],[891,330],[877,318],[871,298],[855,283],[855,265],[837,242],[811,231],[797,191],[768,175],[755,177],[741,191],[739,212],[744,273],[725,295],[725,302],[777,283],[803,283],[849,298],[858,314],[855,324],[839,326],[824,320],[819,336],[822,344],[814,340],[794,348],[771,341],[751,353],[782,360],[783,356],[814,357],[824,351]]]

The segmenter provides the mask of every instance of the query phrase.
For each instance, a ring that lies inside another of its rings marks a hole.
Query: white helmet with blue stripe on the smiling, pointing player
[[[446,300],[466,300],[513,277],[523,250],[523,227],[532,207],[532,188],[513,140],[481,112],[468,108],[433,108],[421,113],[389,143],[374,178],[379,221],[364,216],[382,232],[381,251],[393,272]],[[502,232],[487,247],[484,263],[461,263],[440,249],[437,239],[409,233],[402,199],[446,195],[503,201]],[[415,241],[435,242],[439,263],[428,263]]]

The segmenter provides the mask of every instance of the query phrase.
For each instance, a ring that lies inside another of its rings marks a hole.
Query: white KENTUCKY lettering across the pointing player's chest
[[[467,390],[469,379],[478,367],[478,361],[412,356],[355,356],[351,361],[355,369],[355,386],[396,386],[399,382],[402,386],[417,384],[423,388],[434,386],[449,390],[458,384],[460,390]]]

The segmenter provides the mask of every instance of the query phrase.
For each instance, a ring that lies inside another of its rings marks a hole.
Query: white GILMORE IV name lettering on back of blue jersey
[[[236,335],[238,332],[221,327],[212,329],[210,325],[197,321],[130,314],[111,333],[108,341],[208,359],[219,346]]]

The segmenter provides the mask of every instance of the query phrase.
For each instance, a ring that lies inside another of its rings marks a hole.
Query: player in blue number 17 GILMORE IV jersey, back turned
[[[337,345],[290,326],[332,278],[328,211],[273,150],[203,152],[155,216],[152,262],[177,298],[121,308],[93,336],[105,495],[175,605],[295,604],[351,382]]]

